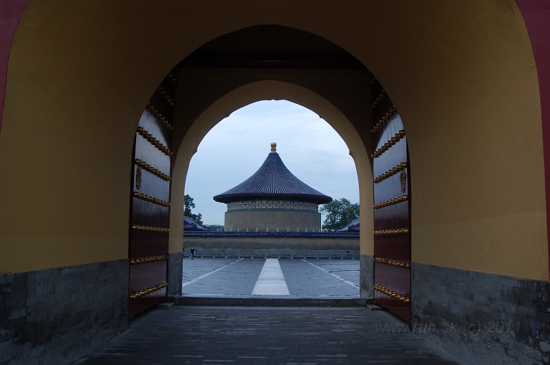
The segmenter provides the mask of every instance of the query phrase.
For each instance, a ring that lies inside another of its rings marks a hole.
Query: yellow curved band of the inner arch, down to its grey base
[[[361,252],[372,252],[373,210],[369,207],[373,201],[371,180],[372,170],[369,155],[364,143],[349,119],[329,100],[318,93],[293,84],[278,80],[261,80],[236,87],[232,91],[210,104],[192,123],[181,141],[173,167],[172,194],[170,213],[170,252],[181,250],[183,240],[184,188],[192,156],[203,137],[216,124],[230,113],[248,104],[261,100],[289,100],[317,113],[329,123],[342,137],[349,148],[349,154],[355,163],[360,186],[360,214],[364,217],[361,233]]]

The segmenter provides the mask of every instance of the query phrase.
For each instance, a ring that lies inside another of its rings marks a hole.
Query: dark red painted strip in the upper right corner
[[[538,73],[550,273],[550,0],[516,0],[516,3],[529,32]]]

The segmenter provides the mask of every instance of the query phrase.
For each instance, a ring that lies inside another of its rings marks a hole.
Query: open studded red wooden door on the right
[[[410,322],[410,177],[399,113],[373,78],[375,302]]]

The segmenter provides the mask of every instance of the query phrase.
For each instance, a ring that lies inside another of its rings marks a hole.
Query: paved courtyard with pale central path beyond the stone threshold
[[[263,281],[262,292],[254,287],[266,262],[278,263],[281,276]],[[188,296],[269,295],[265,288],[281,288],[290,297],[359,296],[358,260],[304,260],[300,258],[195,258],[184,260],[183,293]],[[263,294],[262,294],[263,293]],[[281,295],[272,291],[272,295]],[[280,293],[283,293],[281,291]]]

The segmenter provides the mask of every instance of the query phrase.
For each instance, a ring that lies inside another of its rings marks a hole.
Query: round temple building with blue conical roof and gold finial
[[[227,203],[225,231],[320,232],[319,204],[331,197],[307,186],[288,170],[272,142],[259,170],[214,197]]]

